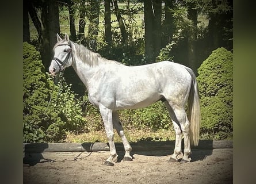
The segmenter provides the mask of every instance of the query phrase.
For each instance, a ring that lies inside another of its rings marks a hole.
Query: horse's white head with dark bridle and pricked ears
[[[51,75],[58,75],[66,67],[72,64],[72,45],[67,34],[62,39],[57,33],[57,43],[54,46],[54,57],[49,66],[49,73]]]

